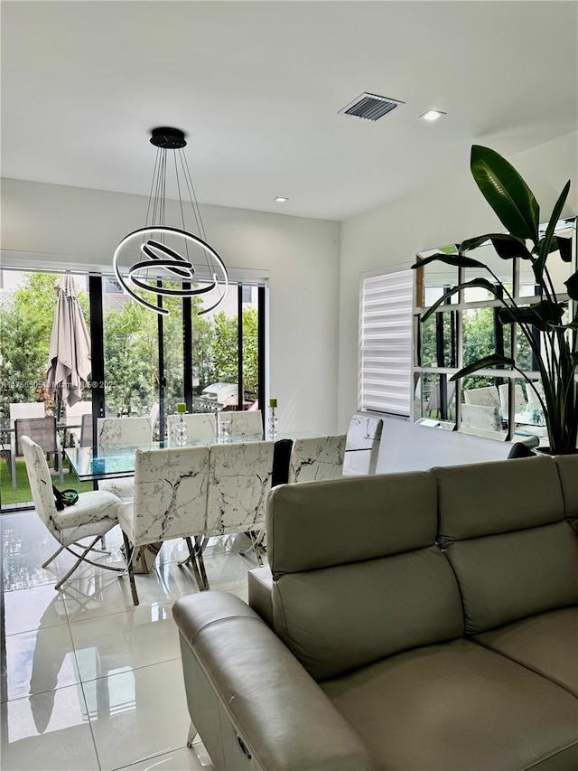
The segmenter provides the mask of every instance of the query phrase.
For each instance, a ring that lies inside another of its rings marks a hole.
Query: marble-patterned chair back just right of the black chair
[[[340,479],[346,435],[295,439],[289,462],[289,482]]]

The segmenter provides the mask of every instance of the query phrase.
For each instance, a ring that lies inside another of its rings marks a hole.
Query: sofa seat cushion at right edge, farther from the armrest
[[[578,696],[578,607],[524,618],[474,640]]]

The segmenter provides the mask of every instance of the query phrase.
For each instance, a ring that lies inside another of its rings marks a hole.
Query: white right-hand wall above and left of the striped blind
[[[415,254],[504,228],[470,173],[464,171],[396,202],[341,222],[340,355],[338,418],[346,428],[358,408],[359,274],[415,261]],[[564,216],[578,213],[578,132],[533,147],[508,160],[516,166],[541,204],[547,221],[568,179],[573,186]]]

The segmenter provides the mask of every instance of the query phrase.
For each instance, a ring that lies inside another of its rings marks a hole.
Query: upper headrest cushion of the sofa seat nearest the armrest
[[[274,578],[422,549],[436,531],[437,492],[428,472],[285,484],[267,503]]]

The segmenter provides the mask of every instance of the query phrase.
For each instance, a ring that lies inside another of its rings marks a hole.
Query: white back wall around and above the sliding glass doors
[[[118,241],[143,226],[147,200],[4,179],[2,249],[9,260],[22,252],[17,259],[23,267],[39,254],[47,269],[62,262],[110,266]],[[201,206],[201,214],[208,240],[228,268],[268,272],[270,394],[278,400],[279,428],[334,431],[339,222],[219,206]]]

